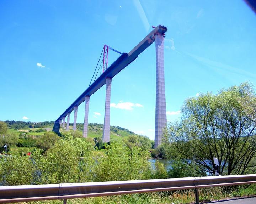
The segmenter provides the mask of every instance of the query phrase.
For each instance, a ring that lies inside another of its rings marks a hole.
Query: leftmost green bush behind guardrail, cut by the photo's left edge
[[[12,152],[0,159],[0,184],[30,185],[36,179],[35,166],[28,156]]]

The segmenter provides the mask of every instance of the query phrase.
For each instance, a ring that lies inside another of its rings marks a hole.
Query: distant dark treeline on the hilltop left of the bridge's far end
[[[39,123],[32,123],[30,121],[15,121],[15,120],[6,120],[5,123],[8,125],[8,128],[20,130],[23,128],[46,128],[47,126],[54,125],[54,121],[45,121]]]

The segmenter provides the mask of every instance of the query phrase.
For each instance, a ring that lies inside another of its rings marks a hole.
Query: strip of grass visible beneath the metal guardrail
[[[256,184],[247,188],[240,186],[236,189],[229,187],[213,187],[199,189],[200,202],[234,197],[256,195]],[[106,196],[96,198],[69,199],[69,204],[188,204],[194,203],[194,190],[170,191],[158,193],[128,194],[122,196]],[[28,202],[28,204],[59,204],[61,200]]]

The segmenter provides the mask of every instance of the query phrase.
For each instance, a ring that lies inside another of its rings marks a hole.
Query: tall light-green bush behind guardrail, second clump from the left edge
[[[35,162],[41,172],[40,183],[91,181],[91,167],[94,163],[91,157],[92,150],[89,142],[75,138],[58,140],[46,151],[45,156],[35,152]]]

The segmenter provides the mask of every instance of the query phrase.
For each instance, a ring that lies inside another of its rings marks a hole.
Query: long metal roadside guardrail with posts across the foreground
[[[0,203],[60,200],[256,183],[256,174],[90,183],[0,186]]]

